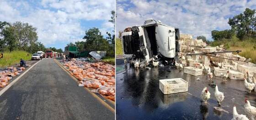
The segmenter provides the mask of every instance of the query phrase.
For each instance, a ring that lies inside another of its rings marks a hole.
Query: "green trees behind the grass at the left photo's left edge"
[[[45,49],[43,43],[38,41],[36,27],[20,21],[12,24],[0,21],[0,52],[24,50],[34,53]]]

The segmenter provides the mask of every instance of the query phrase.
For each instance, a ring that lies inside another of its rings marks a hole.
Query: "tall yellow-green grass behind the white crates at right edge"
[[[229,40],[213,41],[212,46],[222,45],[227,48],[227,50],[242,50],[238,55],[245,58],[251,58],[252,63],[256,64],[256,39],[249,38],[249,40],[238,40],[233,37]]]

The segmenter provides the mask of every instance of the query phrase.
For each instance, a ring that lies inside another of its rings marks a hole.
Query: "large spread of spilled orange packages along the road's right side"
[[[75,58],[73,58],[75,59]],[[78,86],[90,88],[105,98],[115,101],[115,66],[102,62],[88,62],[88,58],[78,58],[63,63],[79,80]]]

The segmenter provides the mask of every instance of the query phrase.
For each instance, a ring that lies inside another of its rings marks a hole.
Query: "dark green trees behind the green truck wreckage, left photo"
[[[111,22],[115,28],[115,11],[111,11]],[[79,51],[93,51],[93,50],[104,50],[107,51],[107,55],[115,55],[115,30],[112,30],[113,35],[107,32],[107,37],[101,34],[100,30],[96,27],[93,27],[89,30],[85,30],[85,36],[83,39],[85,41],[76,41],[75,43],[69,43],[67,46],[77,46]]]

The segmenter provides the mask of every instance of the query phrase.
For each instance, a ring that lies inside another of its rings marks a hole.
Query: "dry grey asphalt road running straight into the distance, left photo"
[[[115,114],[53,59],[43,59],[0,96],[0,120],[114,120]]]

